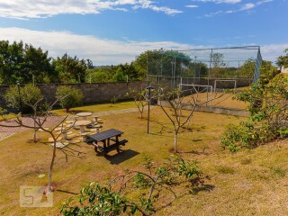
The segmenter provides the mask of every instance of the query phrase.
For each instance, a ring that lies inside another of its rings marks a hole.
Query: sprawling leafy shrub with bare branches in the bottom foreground
[[[192,186],[202,184],[197,161],[192,163],[181,157],[173,156],[162,166],[154,166],[149,157],[144,158],[147,172],[127,170],[124,175],[113,178],[109,184],[86,184],[77,199],[70,198],[63,204],[64,215],[125,215],[139,211],[142,215],[150,215],[159,193],[163,189],[171,191],[176,184],[188,181]],[[135,189],[139,189],[139,198]]]

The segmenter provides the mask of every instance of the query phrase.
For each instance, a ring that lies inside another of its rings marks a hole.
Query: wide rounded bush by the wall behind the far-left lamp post
[[[31,112],[31,104],[35,104],[43,99],[40,88],[28,84],[20,87],[11,86],[4,94],[4,99],[9,107],[20,110],[21,112]]]

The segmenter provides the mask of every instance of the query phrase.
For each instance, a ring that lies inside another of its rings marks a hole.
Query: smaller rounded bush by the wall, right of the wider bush
[[[67,85],[62,85],[57,88],[56,97],[61,107],[66,109],[66,112],[80,105],[83,100],[83,94],[79,90]]]

